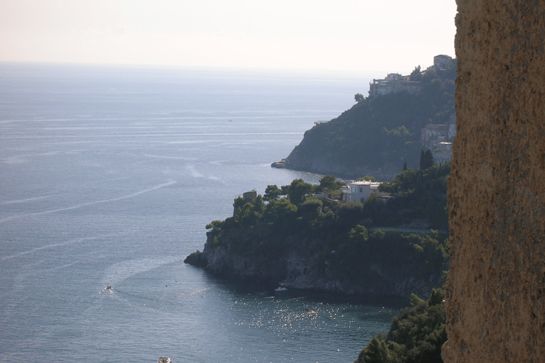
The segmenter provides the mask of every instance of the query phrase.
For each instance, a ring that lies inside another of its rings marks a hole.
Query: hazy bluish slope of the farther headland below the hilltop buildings
[[[442,72],[416,74],[423,83],[418,94],[398,91],[369,97],[341,116],[315,125],[304,133],[283,166],[382,180],[395,177],[404,162],[417,168],[422,128],[446,123],[454,113],[455,65]]]

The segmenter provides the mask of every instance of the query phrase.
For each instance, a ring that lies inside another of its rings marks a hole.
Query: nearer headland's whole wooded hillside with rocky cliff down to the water
[[[446,269],[446,231],[391,227],[427,215],[430,206],[446,213],[449,170],[449,165],[407,169],[383,184],[395,198],[383,201],[372,194],[364,203],[312,196],[338,186],[331,176],[320,185],[302,179],[270,185],[263,196],[235,199],[232,217],[209,223],[203,252],[189,256],[187,263],[221,277],[299,289],[429,296]],[[437,218],[434,225],[443,228],[444,223]]]

